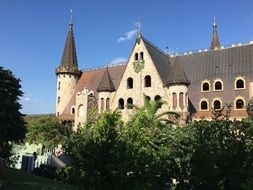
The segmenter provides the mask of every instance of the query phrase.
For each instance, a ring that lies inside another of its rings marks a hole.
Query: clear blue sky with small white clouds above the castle
[[[0,65],[22,80],[23,113],[55,112],[70,9],[82,69],[126,60],[139,18],[143,36],[171,53],[208,48],[213,16],[222,44],[253,40],[252,0],[0,0]]]

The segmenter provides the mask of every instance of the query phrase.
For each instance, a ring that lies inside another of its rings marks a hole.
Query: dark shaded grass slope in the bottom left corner
[[[20,170],[3,168],[1,190],[74,190],[69,184],[25,173]]]

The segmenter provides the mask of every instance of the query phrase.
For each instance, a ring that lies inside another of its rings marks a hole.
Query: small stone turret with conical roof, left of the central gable
[[[97,92],[99,98],[98,110],[99,113],[102,113],[104,110],[110,109],[111,100],[115,92],[115,86],[110,76],[108,67],[105,69],[104,75],[99,82]]]

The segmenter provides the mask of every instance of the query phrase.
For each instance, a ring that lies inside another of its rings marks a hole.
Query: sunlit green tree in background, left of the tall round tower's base
[[[37,120],[27,120],[26,142],[39,144],[53,150],[58,144],[65,144],[71,128],[62,125],[55,117],[44,116]]]

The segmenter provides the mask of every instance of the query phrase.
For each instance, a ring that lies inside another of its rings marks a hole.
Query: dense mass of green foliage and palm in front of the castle
[[[251,189],[251,119],[227,117],[179,126],[146,102],[125,125],[104,112],[67,141],[80,189]],[[167,113],[173,114],[173,113]]]

